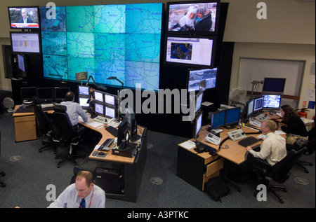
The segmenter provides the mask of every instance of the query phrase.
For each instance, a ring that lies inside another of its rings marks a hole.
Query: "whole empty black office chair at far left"
[[[33,97],[32,102],[32,111],[35,114],[35,118],[37,120],[37,129],[38,133],[41,137],[45,137],[48,132],[51,133],[49,141],[41,141],[41,146],[39,148],[39,153],[46,148],[53,147],[54,154],[56,153],[56,142],[53,141],[53,132],[52,132],[52,123],[51,120],[46,116],[44,110],[41,108],[41,104],[39,102],[39,98]]]

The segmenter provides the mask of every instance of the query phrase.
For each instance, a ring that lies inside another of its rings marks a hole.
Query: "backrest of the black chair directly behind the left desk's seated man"
[[[65,141],[71,141],[76,131],[70,122],[67,114],[67,107],[62,105],[55,105],[52,114],[53,134],[56,138]]]

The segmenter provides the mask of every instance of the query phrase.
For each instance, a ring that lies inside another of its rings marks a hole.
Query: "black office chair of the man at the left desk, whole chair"
[[[61,144],[68,147],[67,155],[57,154],[56,158],[63,158],[58,162],[59,168],[62,162],[71,160],[74,165],[77,165],[75,158],[85,158],[84,154],[74,154],[74,146],[78,146],[81,140],[81,135],[84,132],[84,127],[79,126],[77,130],[70,122],[70,118],[66,113],[67,107],[62,105],[55,105],[52,114],[53,133],[56,139],[60,140]]]

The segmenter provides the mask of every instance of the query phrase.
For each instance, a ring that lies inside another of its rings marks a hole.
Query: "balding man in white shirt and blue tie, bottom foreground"
[[[93,183],[93,174],[80,171],[48,208],[105,208],[105,191]]]

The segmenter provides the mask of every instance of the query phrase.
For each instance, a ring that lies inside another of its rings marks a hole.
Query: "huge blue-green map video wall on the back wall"
[[[87,71],[96,83],[116,76],[124,86],[159,89],[162,4],[41,7],[44,78],[75,81]]]

